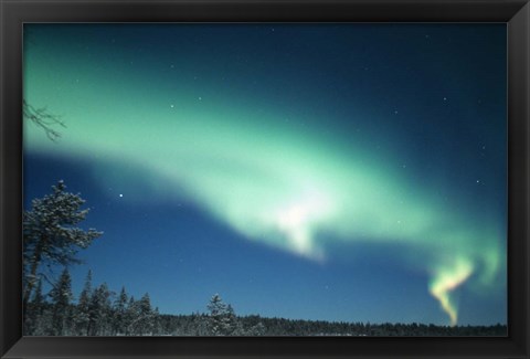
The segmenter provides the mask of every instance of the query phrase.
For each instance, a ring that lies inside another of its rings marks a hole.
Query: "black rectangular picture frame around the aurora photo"
[[[0,0],[1,358],[530,358],[527,0]],[[22,337],[24,22],[506,22],[508,337]]]

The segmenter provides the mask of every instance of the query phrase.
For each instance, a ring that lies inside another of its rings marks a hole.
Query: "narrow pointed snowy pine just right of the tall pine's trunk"
[[[65,267],[59,282],[50,291],[52,299],[52,327],[51,335],[63,336],[70,331],[72,325],[72,278]]]

